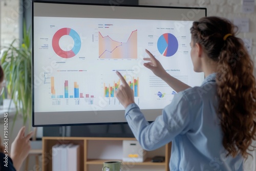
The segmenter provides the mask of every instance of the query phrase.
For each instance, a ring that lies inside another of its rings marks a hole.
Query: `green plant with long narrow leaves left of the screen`
[[[31,121],[32,116],[32,57],[30,47],[30,28],[23,27],[23,41],[13,40],[3,53],[1,66],[5,73],[7,96],[15,104],[16,114],[22,114],[23,124]],[[18,41],[18,46],[14,46]],[[31,122],[30,122],[31,123]]]

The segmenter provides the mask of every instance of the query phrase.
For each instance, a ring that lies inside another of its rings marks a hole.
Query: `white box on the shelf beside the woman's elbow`
[[[138,141],[123,140],[123,162],[143,162],[146,151]]]

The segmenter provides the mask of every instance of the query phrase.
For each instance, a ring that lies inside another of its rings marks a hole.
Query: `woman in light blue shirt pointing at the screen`
[[[172,141],[170,170],[243,170],[243,159],[256,140],[256,88],[253,62],[237,27],[220,17],[203,17],[193,23],[191,60],[195,72],[204,72],[200,87],[190,88],[170,76],[150,58],[144,66],[175,91],[173,101],[153,123],[148,123],[133,90],[120,73],[116,97],[136,139],[147,150]],[[254,159],[255,160],[255,159]]]

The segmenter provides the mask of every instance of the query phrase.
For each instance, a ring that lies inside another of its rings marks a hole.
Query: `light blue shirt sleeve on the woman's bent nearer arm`
[[[188,99],[182,93],[176,94],[151,124],[145,120],[139,106],[132,103],[125,109],[125,119],[142,148],[151,151],[189,130]]]

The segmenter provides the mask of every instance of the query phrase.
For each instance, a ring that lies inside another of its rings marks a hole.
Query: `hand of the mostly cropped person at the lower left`
[[[23,161],[27,158],[30,151],[30,138],[33,135],[33,131],[25,136],[26,127],[23,126],[16,136],[11,145],[11,159],[15,169],[18,171],[22,166]]]

